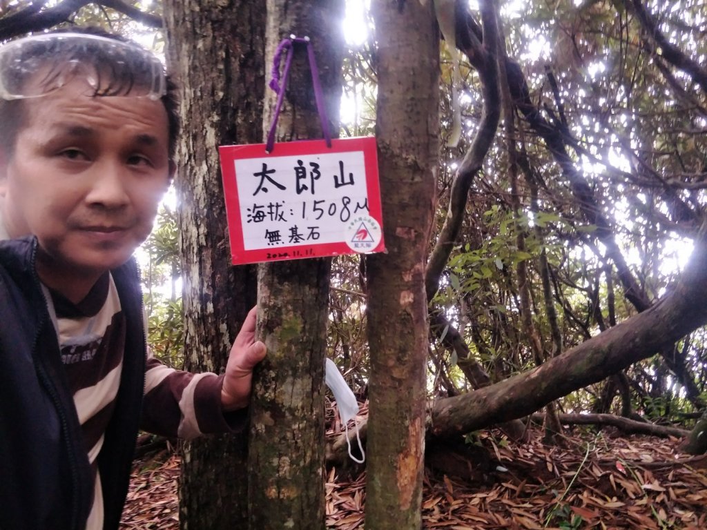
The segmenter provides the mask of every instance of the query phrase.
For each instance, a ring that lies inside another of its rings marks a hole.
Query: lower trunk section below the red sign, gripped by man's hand
[[[251,404],[252,530],[324,528],[330,266],[329,259],[259,266],[258,331],[268,355],[257,370]]]

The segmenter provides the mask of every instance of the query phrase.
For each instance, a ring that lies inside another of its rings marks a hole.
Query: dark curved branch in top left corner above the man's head
[[[27,8],[18,13],[0,19],[0,40],[8,40],[13,37],[25,35],[34,31],[47,30],[57,24],[69,20],[71,15],[88,4],[97,4],[110,7],[129,16],[136,22],[147,25],[151,28],[161,28],[162,18],[151,13],[140,11],[134,6],[130,6],[122,0],[64,0],[56,6],[41,9],[47,2],[33,2]]]

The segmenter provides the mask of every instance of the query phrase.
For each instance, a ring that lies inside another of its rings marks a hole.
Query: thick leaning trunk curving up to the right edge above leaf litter
[[[429,432],[433,437],[445,437],[522,418],[554,399],[672,347],[707,324],[706,261],[704,223],[688,266],[665,298],[534,370],[462,396],[440,399],[431,408]]]

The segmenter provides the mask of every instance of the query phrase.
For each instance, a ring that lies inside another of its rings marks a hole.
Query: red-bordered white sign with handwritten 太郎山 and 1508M
[[[218,151],[233,264],[385,250],[375,138]]]

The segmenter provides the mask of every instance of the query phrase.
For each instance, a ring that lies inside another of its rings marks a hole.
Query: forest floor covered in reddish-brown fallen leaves
[[[426,529],[707,529],[707,455],[679,440],[611,429],[567,430],[561,445],[481,433],[457,447],[428,447]],[[122,530],[177,530],[180,461],[136,461]],[[327,476],[327,528],[362,529],[365,471]]]

